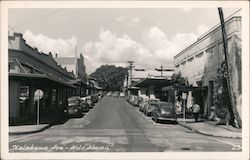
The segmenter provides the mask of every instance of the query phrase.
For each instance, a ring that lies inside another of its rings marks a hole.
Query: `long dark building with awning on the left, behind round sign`
[[[29,46],[22,34],[8,36],[9,122],[10,125],[36,117],[34,92],[43,91],[40,114],[63,112],[67,98],[76,94],[73,73],[61,68],[52,54]]]

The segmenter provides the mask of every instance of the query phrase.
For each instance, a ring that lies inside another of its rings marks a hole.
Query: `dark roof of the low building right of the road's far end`
[[[171,80],[169,79],[157,79],[157,78],[146,78],[139,83],[135,84],[135,87],[149,87],[149,86],[168,86],[171,85]]]

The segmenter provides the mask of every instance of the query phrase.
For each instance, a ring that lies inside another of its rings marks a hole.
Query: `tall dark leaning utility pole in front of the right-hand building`
[[[229,96],[229,111],[232,110],[233,112],[233,115],[230,114],[231,116],[231,120],[234,120],[233,123],[235,126],[239,126],[239,127],[242,127],[242,124],[241,124],[241,119],[240,119],[240,116],[239,116],[239,113],[237,111],[237,108],[236,108],[236,102],[235,102],[235,99],[234,99],[234,96],[233,96],[233,89],[232,89],[232,84],[231,84],[231,73],[229,72],[229,55],[228,55],[228,44],[227,44],[227,34],[226,34],[226,29],[225,29],[225,22],[224,22],[224,16],[223,16],[223,11],[222,11],[222,8],[219,7],[218,8],[218,11],[219,11],[219,16],[220,16],[220,22],[221,22],[221,30],[222,30],[222,39],[223,39],[223,49],[224,49],[224,56],[225,56],[225,69],[226,69],[226,72],[227,72],[227,75],[226,76],[226,80],[227,80],[227,89],[228,89],[228,96]]]

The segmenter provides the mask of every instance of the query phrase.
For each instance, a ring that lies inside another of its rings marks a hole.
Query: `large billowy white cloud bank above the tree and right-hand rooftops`
[[[195,42],[202,28],[194,33],[178,33],[168,37],[159,27],[152,26],[144,32],[141,41],[135,41],[128,35],[118,36],[110,30],[101,29],[96,42],[88,42],[86,66],[89,73],[102,64],[126,66],[128,60],[135,61],[139,68],[153,69],[163,65],[173,68],[173,57]]]

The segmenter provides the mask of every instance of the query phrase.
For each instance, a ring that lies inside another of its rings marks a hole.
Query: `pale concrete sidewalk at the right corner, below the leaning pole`
[[[179,125],[188,128],[194,132],[214,137],[242,139],[241,129],[225,125],[216,125],[212,121],[195,122],[194,119],[178,119]]]

